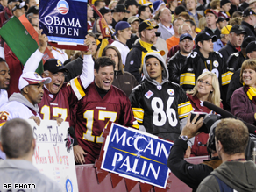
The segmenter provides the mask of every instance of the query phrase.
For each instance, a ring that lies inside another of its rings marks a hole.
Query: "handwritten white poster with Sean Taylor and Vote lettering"
[[[42,174],[60,183],[67,192],[78,192],[73,148],[67,152],[66,141],[68,122],[41,120],[40,126],[33,120],[27,120],[32,125],[36,149],[33,155],[33,165]]]

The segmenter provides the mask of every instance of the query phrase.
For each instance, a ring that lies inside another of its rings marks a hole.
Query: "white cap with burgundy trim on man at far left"
[[[42,78],[37,72],[25,72],[19,77],[18,89],[24,89],[27,85],[47,84],[49,82],[52,82],[50,77]]]

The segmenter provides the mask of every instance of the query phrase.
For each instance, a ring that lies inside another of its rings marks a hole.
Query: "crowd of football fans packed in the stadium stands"
[[[191,111],[216,114],[203,106],[208,101],[256,125],[255,2],[92,0],[84,41],[89,51],[70,52],[47,43],[36,1],[0,1],[0,27],[25,15],[39,33],[39,49],[25,67],[1,39],[0,126],[15,117],[38,124],[41,119],[68,121],[75,130],[75,163],[83,164],[98,158],[109,121],[175,141],[190,126]],[[92,5],[102,14],[110,38]],[[46,47],[54,59],[46,60],[42,77],[37,74],[32,83],[27,78]],[[26,114],[16,109],[19,105],[25,105]],[[206,133],[193,134],[188,145],[180,142],[181,155],[210,154],[198,145],[207,140]],[[218,139],[218,146],[223,142]],[[211,154],[217,156],[216,151]],[[2,151],[0,157],[6,158]],[[189,186],[196,189],[200,181]],[[207,188],[205,182],[200,188]]]

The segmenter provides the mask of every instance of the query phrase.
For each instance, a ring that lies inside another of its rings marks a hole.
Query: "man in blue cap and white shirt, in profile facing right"
[[[119,52],[121,53],[123,65],[125,65],[125,60],[127,54],[130,52],[128,46],[126,46],[126,42],[131,38],[131,25],[129,25],[126,21],[119,21],[116,25],[116,32],[113,35],[117,36],[117,40],[115,40],[111,46],[116,46]]]

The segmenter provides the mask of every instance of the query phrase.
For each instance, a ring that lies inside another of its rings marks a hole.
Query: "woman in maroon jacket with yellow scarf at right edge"
[[[256,125],[256,61],[245,60],[241,67],[243,87],[231,96],[231,113],[247,123]]]

